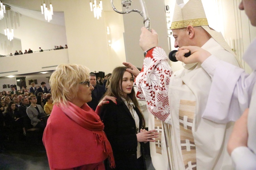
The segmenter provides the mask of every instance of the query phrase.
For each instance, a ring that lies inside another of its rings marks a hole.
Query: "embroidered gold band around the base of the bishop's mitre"
[[[209,25],[209,24],[206,18],[198,18],[198,19],[172,22],[170,29],[187,28],[187,26],[189,25],[193,27],[197,27],[197,26],[203,26],[203,25]]]

